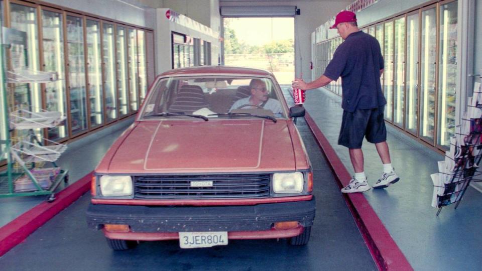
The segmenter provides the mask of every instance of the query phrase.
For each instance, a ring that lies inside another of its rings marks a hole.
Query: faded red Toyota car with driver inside
[[[157,77],[134,123],[92,178],[87,222],[114,250],[179,239],[304,245],[315,216],[313,174],[272,73],[227,66]]]

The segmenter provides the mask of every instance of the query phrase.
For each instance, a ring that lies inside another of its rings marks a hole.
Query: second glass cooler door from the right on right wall
[[[433,141],[435,119],[435,75],[437,18],[435,8],[422,12],[420,137]]]

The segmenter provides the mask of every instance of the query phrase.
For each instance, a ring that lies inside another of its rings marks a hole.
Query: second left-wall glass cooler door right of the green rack
[[[87,78],[90,102],[90,127],[104,122],[102,93],[102,55],[100,50],[100,22],[86,20]]]

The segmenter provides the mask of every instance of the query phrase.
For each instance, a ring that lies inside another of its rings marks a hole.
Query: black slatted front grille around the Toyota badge
[[[270,174],[133,176],[138,199],[268,198]],[[210,182],[192,187],[191,182]]]

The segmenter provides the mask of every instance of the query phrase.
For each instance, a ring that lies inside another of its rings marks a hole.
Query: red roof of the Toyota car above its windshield
[[[247,67],[235,66],[195,66],[187,68],[173,69],[161,73],[159,76],[182,76],[182,75],[253,75],[253,76],[271,76],[273,74],[262,69],[254,69]]]

